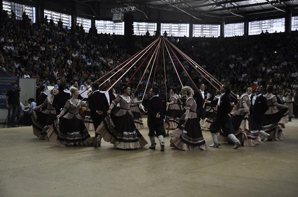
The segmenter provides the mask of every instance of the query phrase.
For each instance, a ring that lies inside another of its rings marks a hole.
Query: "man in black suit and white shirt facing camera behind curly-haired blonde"
[[[205,122],[205,115],[206,115],[205,99],[207,98],[207,93],[204,90],[205,90],[205,85],[202,83],[200,84],[199,92],[196,92],[193,97],[197,102],[196,113],[201,125],[201,130],[204,130],[202,126]]]

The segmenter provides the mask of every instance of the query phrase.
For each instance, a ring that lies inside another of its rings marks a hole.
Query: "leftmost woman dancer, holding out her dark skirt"
[[[32,128],[33,134],[38,137],[39,140],[48,140],[47,139],[47,130],[50,128],[51,124],[56,119],[56,109],[53,107],[53,99],[55,95],[58,94],[58,90],[54,88],[51,90],[51,97],[47,97],[45,101],[37,106],[32,108]],[[47,109],[43,111],[35,111],[42,107],[47,106]]]

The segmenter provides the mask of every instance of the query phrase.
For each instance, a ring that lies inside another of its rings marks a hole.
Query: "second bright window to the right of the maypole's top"
[[[193,37],[219,37],[220,25],[193,24]]]

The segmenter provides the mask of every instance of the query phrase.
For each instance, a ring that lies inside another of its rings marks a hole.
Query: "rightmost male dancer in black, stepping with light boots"
[[[262,130],[262,119],[264,118],[265,112],[269,109],[267,105],[267,100],[262,95],[263,88],[258,86],[255,91],[255,96],[252,99],[251,107],[250,107],[250,114],[255,121],[255,124],[258,129],[258,133],[264,136],[264,141],[266,142],[270,135]]]

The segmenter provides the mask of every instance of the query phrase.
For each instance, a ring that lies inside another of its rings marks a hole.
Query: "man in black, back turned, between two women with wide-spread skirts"
[[[108,99],[104,93],[99,92],[98,83],[93,83],[91,86],[92,93],[88,96],[88,107],[90,108],[91,119],[96,131],[97,127],[104,120],[109,109]],[[95,132],[96,141],[94,143],[94,148],[100,147],[101,135]]]

